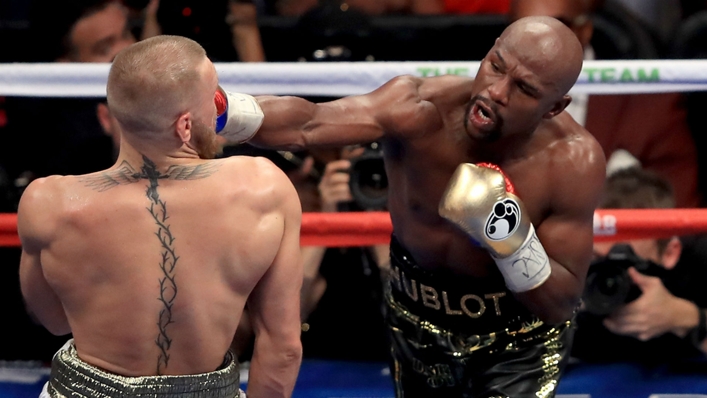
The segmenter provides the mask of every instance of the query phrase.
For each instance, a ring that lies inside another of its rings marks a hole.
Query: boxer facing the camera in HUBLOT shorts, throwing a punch
[[[254,99],[254,145],[383,144],[398,397],[554,396],[605,178],[601,148],[564,112],[581,67],[571,30],[529,17],[474,79],[399,76],[319,104]]]

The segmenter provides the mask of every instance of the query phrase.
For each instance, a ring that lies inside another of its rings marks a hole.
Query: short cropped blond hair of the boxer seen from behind
[[[181,36],[137,42],[115,57],[108,74],[108,107],[124,131],[155,134],[188,110],[206,51]]]

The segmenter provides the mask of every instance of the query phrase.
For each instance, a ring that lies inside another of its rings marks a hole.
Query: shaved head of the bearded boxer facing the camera
[[[467,132],[486,141],[532,133],[572,101],[567,93],[582,71],[583,55],[574,33],[555,18],[513,22],[474,77]]]

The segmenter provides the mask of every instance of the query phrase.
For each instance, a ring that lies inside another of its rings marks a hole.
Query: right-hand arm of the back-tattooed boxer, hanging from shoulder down
[[[255,331],[255,348],[248,381],[248,396],[289,397],[302,360],[300,342],[300,289],[302,263],[299,233],[302,211],[287,177],[273,181],[282,196],[284,233],[272,265],[248,300]]]

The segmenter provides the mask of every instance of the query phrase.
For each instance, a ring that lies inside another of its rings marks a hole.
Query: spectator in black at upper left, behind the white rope
[[[127,10],[117,0],[34,0],[30,30],[32,48],[37,49],[32,60],[41,62],[110,62],[135,42]],[[96,117],[100,101],[8,98],[9,145],[3,155],[17,159],[7,166],[10,177],[81,174],[109,167],[113,149]]]

